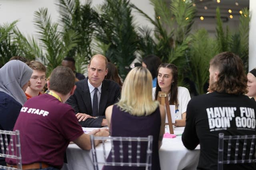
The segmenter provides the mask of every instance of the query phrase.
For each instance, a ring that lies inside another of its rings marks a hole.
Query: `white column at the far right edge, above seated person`
[[[249,70],[256,67],[256,0],[250,0]]]

